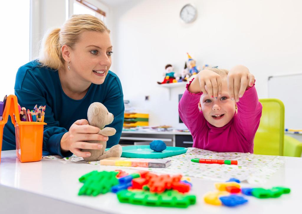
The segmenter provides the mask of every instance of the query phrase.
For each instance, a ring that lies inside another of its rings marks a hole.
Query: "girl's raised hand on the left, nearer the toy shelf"
[[[205,95],[209,94],[210,98],[217,99],[222,93],[222,78],[214,71],[202,70],[196,75],[188,90],[195,94],[203,92]]]

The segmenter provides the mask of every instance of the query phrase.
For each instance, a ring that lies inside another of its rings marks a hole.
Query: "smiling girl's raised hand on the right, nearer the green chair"
[[[228,89],[230,98],[239,102],[246,89],[252,87],[255,77],[249,72],[249,69],[243,65],[236,65],[227,75]]]

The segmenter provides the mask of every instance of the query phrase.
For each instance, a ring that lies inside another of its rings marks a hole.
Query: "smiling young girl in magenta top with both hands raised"
[[[249,69],[237,65],[230,72],[203,70],[187,84],[178,111],[193,136],[193,147],[253,152],[262,113],[254,82]]]

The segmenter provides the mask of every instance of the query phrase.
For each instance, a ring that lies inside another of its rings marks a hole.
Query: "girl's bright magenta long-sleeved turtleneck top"
[[[193,136],[193,147],[216,152],[253,153],[255,133],[262,114],[255,84],[237,102],[238,112],[235,112],[230,122],[218,128],[211,125],[198,109],[202,93],[188,91],[192,81],[186,86],[178,104],[178,112]]]

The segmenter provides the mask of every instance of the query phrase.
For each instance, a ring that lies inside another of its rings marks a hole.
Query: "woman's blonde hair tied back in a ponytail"
[[[64,59],[61,47],[66,44],[72,49],[80,40],[81,34],[87,30],[100,33],[107,31],[110,33],[104,23],[95,16],[89,14],[72,15],[61,29],[56,28],[44,36],[39,62],[42,66],[55,70],[63,68]]]

